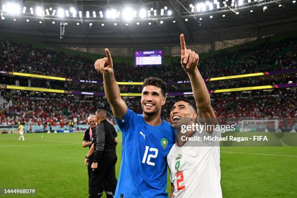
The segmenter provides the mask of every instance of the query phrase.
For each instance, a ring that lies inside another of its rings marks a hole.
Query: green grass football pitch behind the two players
[[[36,133],[18,141],[18,134],[0,134],[0,188],[36,189],[33,197],[0,197],[87,198],[82,136]],[[120,154],[121,141],[117,176]],[[297,147],[221,148],[221,186],[224,198],[297,198]]]

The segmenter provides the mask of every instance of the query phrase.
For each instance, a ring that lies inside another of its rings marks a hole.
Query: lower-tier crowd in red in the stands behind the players
[[[297,117],[296,95],[297,89],[271,89],[212,94],[211,100],[214,112],[219,118]],[[106,109],[113,120],[105,97],[2,91],[0,98],[7,101],[0,107],[0,125],[22,122],[62,126],[70,121],[87,124],[87,116],[94,114],[97,109]],[[178,98],[167,98],[162,110],[165,120],[169,121],[171,107]],[[123,99],[130,109],[142,114],[139,97]]]

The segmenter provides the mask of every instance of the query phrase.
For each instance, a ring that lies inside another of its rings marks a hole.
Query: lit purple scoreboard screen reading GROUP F
[[[162,65],[163,51],[135,51],[135,66]]]

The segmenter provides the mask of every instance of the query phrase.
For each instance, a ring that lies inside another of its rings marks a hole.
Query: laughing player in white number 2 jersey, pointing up
[[[220,131],[215,130],[217,121],[198,70],[198,60],[197,53],[186,49],[181,34],[181,66],[191,81],[197,111],[195,104],[187,99],[179,100],[171,109],[170,119],[177,129],[177,141],[167,155],[172,186],[170,198],[222,198],[219,145],[218,142],[203,141],[203,136],[220,136]],[[182,125],[195,123],[213,128],[181,132]],[[202,141],[190,141],[185,137],[200,137]]]

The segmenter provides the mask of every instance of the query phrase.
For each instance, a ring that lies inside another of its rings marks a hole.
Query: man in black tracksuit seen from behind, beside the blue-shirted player
[[[90,198],[101,197],[101,186],[103,185],[107,198],[113,198],[116,188],[115,163],[117,160],[115,153],[116,132],[112,124],[106,119],[106,111],[96,112],[97,125],[94,138],[94,160],[90,178]]]

